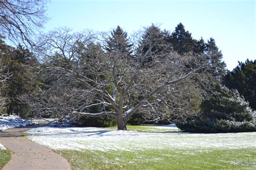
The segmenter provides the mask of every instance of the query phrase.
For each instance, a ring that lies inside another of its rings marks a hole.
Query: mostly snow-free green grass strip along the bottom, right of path
[[[56,151],[73,169],[255,169],[256,148],[233,150]]]

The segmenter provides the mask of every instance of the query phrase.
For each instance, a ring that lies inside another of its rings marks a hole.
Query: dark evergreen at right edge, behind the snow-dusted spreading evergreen
[[[256,110],[256,60],[238,62],[232,72],[225,76],[224,84],[228,88],[237,89],[245,97],[250,107]]]

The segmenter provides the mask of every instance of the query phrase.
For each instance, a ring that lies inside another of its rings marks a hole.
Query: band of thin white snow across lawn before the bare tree
[[[152,126],[151,126],[152,127]],[[251,133],[183,133],[137,132],[100,128],[53,128],[45,126],[28,131],[29,138],[56,150],[147,150],[250,148],[256,146],[256,132]]]

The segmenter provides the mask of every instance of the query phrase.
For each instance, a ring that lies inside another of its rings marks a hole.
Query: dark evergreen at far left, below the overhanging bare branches
[[[10,79],[6,81],[7,86],[2,89],[2,95],[6,98],[6,112],[8,115],[15,113],[26,116],[29,108],[26,104],[19,103],[18,97],[25,93],[32,93],[35,88],[36,82],[33,80],[32,67],[37,59],[28,49],[19,45],[3,61],[9,66],[8,72],[12,73]]]

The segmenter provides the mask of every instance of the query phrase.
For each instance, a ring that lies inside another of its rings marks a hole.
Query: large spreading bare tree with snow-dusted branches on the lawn
[[[64,61],[60,65],[48,62],[47,69],[58,76],[56,86],[77,86],[93,98],[84,96],[84,103],[72,108],[68,117],[111,115],[117,118],[119,130],[126,130],[127,121],[138,112],[154,119],[191,112],[185,110],[191,102],[189,95],[198,93],[196,88],[191,90],[191,84],[207,68],[204,55],[181,56],[171,50],[151,53],[153,43],[146,53],[129,58],[124,52],[104,53],[92,44],[97,42],[91,32],[70,34],[64,29],[48,34],[47,39],[44,58],[59,55]],[[133,45],[136,47],[136,41]],[[145,65],[147,61],[150,63]],[[96,105],[101,110],[92,114],[90,107]]]

